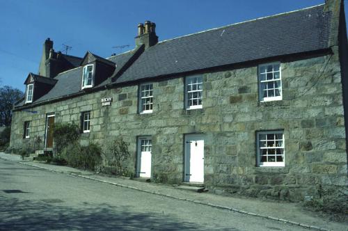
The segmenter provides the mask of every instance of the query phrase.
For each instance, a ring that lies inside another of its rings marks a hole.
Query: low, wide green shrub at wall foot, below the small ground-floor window
[[[102,162],[102,148],[96,143],[90,143],[87,146],[72,143],[62,153],[68,165],[76,168],[95,170]]]

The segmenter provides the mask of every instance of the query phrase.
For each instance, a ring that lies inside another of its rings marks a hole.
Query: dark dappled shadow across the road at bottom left
[[[0,195],[0,230],[205,230],[161,213],[140,213],[127,207],[81,205],[81,209],[40,200]],[[229,229],[231,230],[231,229]]]

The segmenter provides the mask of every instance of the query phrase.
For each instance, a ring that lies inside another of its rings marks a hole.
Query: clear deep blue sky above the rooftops
[[[134,48],[137,25],[155,22],[159,40],[226,26],[248,19],[298,10],[324,0],[0,0],[0,86],[24,90],[29,72],[38,72],[42,44],[72,46],[68,54],[86,51],[109,57],[114,46]],[[345,7],[347,12],[347,6]],[[347,20],[347,19],[346,19]]]

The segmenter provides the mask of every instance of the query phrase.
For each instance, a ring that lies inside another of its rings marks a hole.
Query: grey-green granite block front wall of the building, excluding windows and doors
[[[347,186],[342,84],[333,55],[282,60],[283,100],[259,102],[258,63],[203,73],[203,109],[184,109],[184,76],[153,82],[153,113],[138,113],[138,86],[122,86],[13,113],[10,146],[45,136],[47,113],[80,124],[90,111],[90,141],[106,145],[122,136],[136,168],[136,139],[152,137],[152,178],[182,182],[184,135],[205,135],[205,185],[216,193],[285,200],[319,196],[323,186]],[[103,97],[113,97],[102,106]],[[23,138],[31,121],[30,138]],[[256,132],[283,130],[285,167],[256,166]]]

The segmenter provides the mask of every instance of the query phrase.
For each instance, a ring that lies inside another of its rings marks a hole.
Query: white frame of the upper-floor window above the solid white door
[[[194,81],[196,79],[196,81]],[[193,86],[196,85],[196,89],[193,90]],[[200,94],[200,97],[193,97],[194,93]],[[200,99],[200,104],[199,104]],[[190,105],[189,101],[196,101],[196,105]],[[203,76],[200,74],[189,76],[185,78],[185,108],[191,109],[203,109]]]

